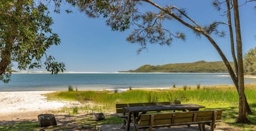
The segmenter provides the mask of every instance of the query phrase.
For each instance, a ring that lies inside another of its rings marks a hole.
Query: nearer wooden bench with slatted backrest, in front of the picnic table
[[[139,123],[134,126],[137,129],[149,128],[149,130],[153,130],[156,127],[198,124],[202,131],[205,124],[210,124],[211,131],[213,131],[215,122],[221,119],[221,114],[222,110],[142,114]]]

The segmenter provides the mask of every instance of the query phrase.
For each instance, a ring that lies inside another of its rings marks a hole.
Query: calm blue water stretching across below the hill
[[[11,82],[0,83],[0,91],[78,90],[112,88],[171,88],[176,86],[233,85],[227,73],[84,73],[84,74],[12,74]],[[256,83],[256,78],[245,78]]]

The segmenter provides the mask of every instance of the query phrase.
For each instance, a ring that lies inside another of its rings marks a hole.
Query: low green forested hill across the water
[[[234,68],[234,63],[230,63]],[[204,60],[194,63],[177,63],[166,65],[143,65],[135,70],[121,72],[136,73],[227,73],[228,70],[223,62],[205,62]]]

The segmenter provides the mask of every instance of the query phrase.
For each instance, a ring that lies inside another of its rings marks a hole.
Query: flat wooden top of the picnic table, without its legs
[[[142,107],[124,107],[123,109],[129,112],[147,112],[147,111],[163,111],[163,110],[194,110],[205,108],[198,104],[170,104],[157,106],[142,106]]]

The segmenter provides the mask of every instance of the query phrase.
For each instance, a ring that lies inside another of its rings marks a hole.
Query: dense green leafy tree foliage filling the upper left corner
[[[59,45],[58,34],[53,33],[52,18],[43,3],[33,0],[0,1],[0,81],[9,82],[11,68],[34,69],[45,66],[56,74],[65,65],[47,56],[46,50]],[[42,58],[45,57],[44,62]]]

